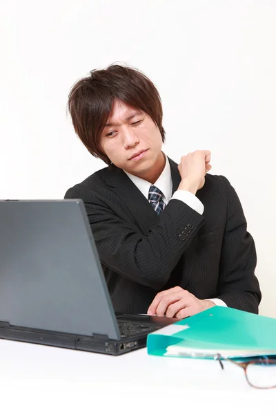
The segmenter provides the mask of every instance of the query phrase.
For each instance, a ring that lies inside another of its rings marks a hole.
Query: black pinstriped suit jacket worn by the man
[[[172,193],[180,175],[169,159]],[[146,313],[159,291],[181,286],[258,312],[256,252],[238,196],[224,176],[206,175],[198,214],[172,199],[159,216],[122,169],[111,165],[66,192],[82,199],[115,311]]]

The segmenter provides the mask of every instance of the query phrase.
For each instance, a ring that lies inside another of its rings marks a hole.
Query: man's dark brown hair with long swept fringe
[[[112,64],[95,69],[79,80],[69,93],[68,109],[75,132],[88,151],[108,165],[99,138],[108,120],[115,99],[146,112],[155,122],[165,141],[160,95],[154,84],[137,69]]]

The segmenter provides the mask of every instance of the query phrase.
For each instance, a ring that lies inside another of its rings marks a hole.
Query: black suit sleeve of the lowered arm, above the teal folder
[[[258,313],[261,301],[259,282],[255,276],[257,256],[253,237],[247,231],[246,218],[237,193],[226,183],[227,219],[221,248],[219,295],[228,307]]]

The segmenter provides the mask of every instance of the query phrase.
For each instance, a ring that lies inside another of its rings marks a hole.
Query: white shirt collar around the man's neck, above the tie
[[[135,184],[135,186],[138,187],[140,192],[144,194],[146,199],[148,199],[148,192],[150,190],[150,186],[153,184],[164,194],[163,200],[164,203],[168,203],[170,201],[170,198],[172,197],[172,176],[170,173],[170,163],[168,161],[168,157],[166,156],[166,164],[164,167],[163,172],[161,172],[159,178],[157,178],[157,181],[155,183],[150,183],[144,178],[140,178],[137,176],[134,176],[134,174],[130,174],[126,172],[126,175],[130,178],[132,183]]]

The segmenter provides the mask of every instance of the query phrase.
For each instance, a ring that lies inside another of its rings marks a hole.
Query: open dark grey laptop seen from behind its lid
[[[117,356],[176,321],[115,313],[83,201],[0,201],[0,338]]]

